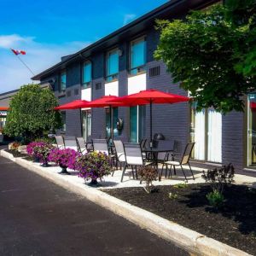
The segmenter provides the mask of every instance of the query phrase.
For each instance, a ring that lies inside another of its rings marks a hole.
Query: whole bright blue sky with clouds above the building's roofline
[[[32,74],[9,48],[26,50],[20,58],[39,73],[166,2],[1,0],[0,93],[31,82]]]

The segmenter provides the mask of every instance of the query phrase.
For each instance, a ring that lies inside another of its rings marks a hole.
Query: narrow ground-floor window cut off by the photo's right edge
[[[249,94],[247,102],[247,166],[256,166],[256,94]]]

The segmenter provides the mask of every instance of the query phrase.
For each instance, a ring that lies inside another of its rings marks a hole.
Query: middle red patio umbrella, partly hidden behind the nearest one
[[[83,104],[82,108],[105,108],[108,107],[110,110],[110,132],[111,137],[113,138],[113,108],[114,107],[125,107],[127,104],[124,102],[110,102],[118,101],[118,96],[102,96],[94,101],[86,102]]]

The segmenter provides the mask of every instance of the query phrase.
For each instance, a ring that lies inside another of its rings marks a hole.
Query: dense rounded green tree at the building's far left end
[[[43,137],[51,128],[61,128],[60,113],[54,93],[38,84],[27,84],[11,99],[4,133],[31,141]]]

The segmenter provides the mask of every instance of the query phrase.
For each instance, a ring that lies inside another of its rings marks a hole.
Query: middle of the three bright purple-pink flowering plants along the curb
[[[51,150],[48,156],[48,160],[55,162],[62,168],[75,169],[76,159],[81,154],[71,148],[59,149],[54,148]]]

